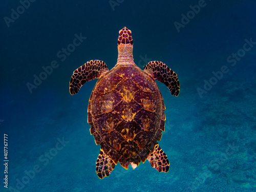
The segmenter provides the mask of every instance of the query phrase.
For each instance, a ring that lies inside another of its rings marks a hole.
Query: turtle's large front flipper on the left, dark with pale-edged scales
[[[73,72],[69,86],[70,94],[77,94],[84,83],[99,78],[102,73],[107,71],[109,71],[109,69],[102,60],[87,61]]]

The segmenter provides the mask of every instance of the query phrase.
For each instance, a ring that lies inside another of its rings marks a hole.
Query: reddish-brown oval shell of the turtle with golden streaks
[[[90,132],[124,168],[144,163],[164,131],[164,102],[155,80],[135,65],[117,66],[97,81],[88,106]]]

